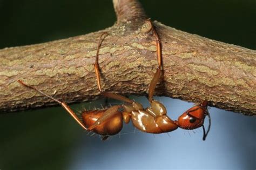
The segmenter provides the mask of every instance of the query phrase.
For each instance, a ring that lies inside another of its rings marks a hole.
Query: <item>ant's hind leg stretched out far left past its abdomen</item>
[[[86,127],[84,126],[84,124],[82,123],[82,121],[80,121],[80,119],[77,117],[76,113],[73,112],[73,111],[71,110],[71,108],[70,108],[67,104],[65,104],[65,103],[63,103],[62,101],[59,101],[59,100],[57,100],[57,99],[55,99],[55,98],[49,96],[48,94],[45,94],[44,92],[42,92],[42,91],[36,89],[36,87],[32,87],[32,86],[26,85],[22,80],[18,80],[18,83],[22,84],[22,85],[25,86],[25,87],[28,87],[29,89],[33,89],[33,90],[35,90],[35,91],[37,91],[37,92],[43,94],[44,96],[49,97],[50,99],[56,101],[58,104],[60,104],[60,105],[77,121],[77,123],[78,123],[80,126],[82,126],[82,127],[84,128],[84,130],[87,130],[87,128],[86,128]]]

